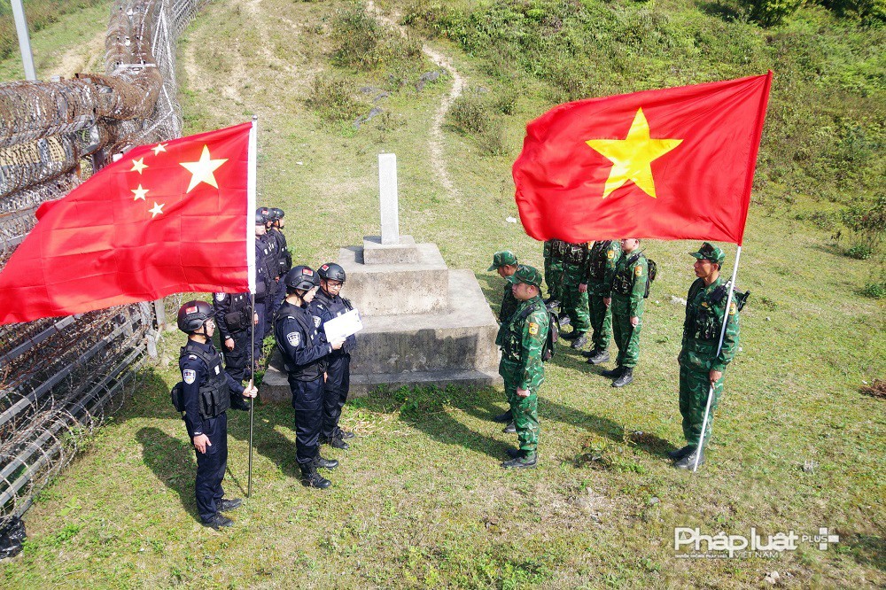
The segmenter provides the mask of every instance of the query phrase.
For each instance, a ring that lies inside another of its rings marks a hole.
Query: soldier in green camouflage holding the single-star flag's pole
[[[711,438],[711,421],[723,392],[723,372],[738,350],[738,309],[733,300],[727,299],[729,286],[719,276],[726,254],[717,246],[705,242],[698,252],[694,265],[698,277],[686,297],[686,320],[683,322],[683,345],[677,361],[680,363],[680,414],[683,416],[683,436],[687,445],[670,453],[678,469],[692,469],[696,452],[702,438],[704,408],[713,384],[711,413],[704,432],[704,439]],[[719,354],[720,331],[727,319],[726,334]],[[704,462],[703,447],[698,464]]]

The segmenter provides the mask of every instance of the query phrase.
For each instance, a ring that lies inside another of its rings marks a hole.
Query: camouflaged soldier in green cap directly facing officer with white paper
[[[509,449],[504,468],[534,467],[539,443],[539,387],[545,380],[541,353],[548,338],[548,310],[541,300],[541,273],[521,265],[508,277],[517,311],[499,328],[495,344],[501,346],[499,373],[504,379],[511,414],[517,427],[519,449]]]

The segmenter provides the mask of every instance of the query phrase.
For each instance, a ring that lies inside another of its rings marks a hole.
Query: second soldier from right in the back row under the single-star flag
[[[612,336],[612,314],[604,299],[609,297],[607,285],[612,281],[615,265],[621,256],[618,240],[600,240],[587,253],[587,307],[594,330],[591,342],[594,347],[587,353],[587,362],[599,365],[610,360],[609,343]]]

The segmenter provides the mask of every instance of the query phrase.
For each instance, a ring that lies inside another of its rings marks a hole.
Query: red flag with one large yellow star
[[[530,236],[742,244],[772,72],[559,105],[514,163]]]

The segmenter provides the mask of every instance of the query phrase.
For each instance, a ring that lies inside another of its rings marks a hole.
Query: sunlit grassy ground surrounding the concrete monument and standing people
[[[499,96],[517,88],[511,113],[493,118],[501,123],[501,152],[447,120],[442,164],[455,184],[455,193],[447,193],[429,146],[433,113],[451,80],[417,90],[417,75],[437,67],[418,57],[393,66],[382,59],[371,70],[331,66],[330,31],[344,5],[211,4],[180,43],[185,132],[259,115],[260,203],[286,210],[295,259],[314,265],[377,233],[377,153],[396,152],[401,232],[439,245],[450,268],[473,270],[497,308],[501,279],[486,272],[492,253],[508,247],[541,264],[540,244],[506,221],[517,217],[509,166],[525,121],[553,104],[554,86],[520,71],[504,85],[488,56],[446,38],[431,42],[469,89]],[[410,5],[377,7],[401,16]],[[699,12],[693,7],[659,6],[687,22]],[[610,9],[633,10],[618,3]],[[815,10],[798,15],[822,18]],[[803,33],[814,27],[792,23],[800,31],[797,44],[812,43],[804,35],[828,34],[827,28]],[[722,25],[739,38],[744,27]],[[734,49],[727,36],[723,56]],[[770,66],[766,56],[754,60],[746,70],[723,67],[742,75]],[[398,70],[393,78],[391,67]],[[372,105],[384,113],[359,130],[350,120],[318,116],[306,98],[315,75],[333,71],[353,84],[362,113]],[[613,78],[622,85],[615,89],[635,83],[630,74]],[[408,76],[412,82],[400,86]],[[373,103],[382,90],[391,96]],[[882,95],[866,100],[882,113]],[[783,97],[774,104],[782,113],[794,106]],[[782,148],[790,144],[785,137],[761,152],[766,182],[755,192],[739,274],[740,287],[752,292],[742,313],[742,350],[727,370],[709,462],[696,475],[673,470],[664,453],[682,445],[676,356],[683,309],[672,297],[686,295],[693,278],[686,252],[697,244],[650,240],[645,249],[659,264],[659,278],[636,379],[614,390],[578,354],[561,348],[540,392],[537,469],[511,473],[498,466],[514,442],[489,420],[505,407],[500,389],[403,391],[349,401],[343,423],[359,438],[346,453],[329,452],[342,463],[331,472],[332,488],[309,490],[298,481],[291,408],[259,405],[253,497],[231,513],[234,528],[213,532],[198,523],[193,452],[168,402],[175,363],[160,363],[27,513],[27,546],[0,562],[0,586],[886,585],[886,414],[882,400],[859,392],[886,375],[882,299],[862,294],[882,260],[845,256],[844,245],[831,238],[834,227],[809,221],[844,203],[813,194],[813,185],[825,192],[839,187],[784,159]],[[866,161],[876,170],[882,145],[873,150]],[[875,193],[866,178],[856,180]],[[725,248],[729,272],[735,249]],[[177,353],[179,336],[167,335],[167,356]],[[246,416],[232,413],[231,496],[245,494],[247,431]],[[803,469],[807,462],[814,465],[810,472]],[[827,527],[840,540],[825,550],[801,542],[796,551],[768,557],[684,559],[673,548],[676,527],[744,536],[755,527],[764,540]],[[770,583],[773,571],[779,577]]]

